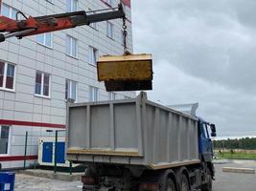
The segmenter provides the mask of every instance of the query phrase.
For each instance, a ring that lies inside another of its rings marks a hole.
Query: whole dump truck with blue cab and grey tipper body
[[[66,117],[66,159],[87,166],[82,190],[212,190],[214,124],[146,93],[68,103]]]

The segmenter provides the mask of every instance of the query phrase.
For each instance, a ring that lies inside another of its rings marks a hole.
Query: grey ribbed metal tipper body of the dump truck
[[[161,169],[198,163],[198,119],[148,100],[70,103],[66,151],[73,162]]]

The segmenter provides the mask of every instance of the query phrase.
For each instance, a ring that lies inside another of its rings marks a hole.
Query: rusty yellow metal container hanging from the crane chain
[[[97,62],[98,80],[110,91],[151,90],[151,54],[105,55]]]

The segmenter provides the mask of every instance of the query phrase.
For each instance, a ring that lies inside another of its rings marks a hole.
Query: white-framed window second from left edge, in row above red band
[[[50,74],[36,72],[35,95],[50,96]]]

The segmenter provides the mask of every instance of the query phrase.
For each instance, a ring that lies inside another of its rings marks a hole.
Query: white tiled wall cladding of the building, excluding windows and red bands
[[[100,0],[79,1],[79,10],[88,11],[107,8]],[[119,1],[114,0],[117,5]],[[54,5],[47,1],[17,1],[3,0],[13,8],[23,11],[26,15],[45,15],[66,11],[66,1],[55,0]],[[130,13],[128,12],[128,18]],[[123,46],[120,42],[122,20],[111,21],[114,24],[114,40],[106,37],[105,22],[97,23],[97,30],[88,26],[76,29],[53,32],[53,47],[51,49],[36,42],[36,36],[8,39],[1,43],[0,60],[11,62],[15,68],[14,92],[0,90],[0,119],[65,124],[65,80],[77,82],[78,101],[88,101],[88,87],[100,88],[100,99],[105,100],[104,83],[97,81],[96,67],[88,63],[88,46],[99,50],[99,55],[122,54]],[[131,24],[128,22],[128,45],[132,51]],[[78,58],[68,56],[66,52],[66,34],[78,39]],[[51,75],[50,98],[35,96],[35,73],[41,71]],[[118,98],[135,96],[134,92],[118,93]],[[37,138],[54,137],[54,133],[47,133],[44,127],[28,127],[12,125],[11,156],[23,155],[25,132],[29,131],[30,155],[37,153]],[[59,130],[59,129],[58,129]],[[63,133],[59,133],[63,134]],[[61,135],[59,135],[61,136]],[[28,161],[28,163],[34,161]],[[3,162],[4,167],[21,167],[23,161]]]

